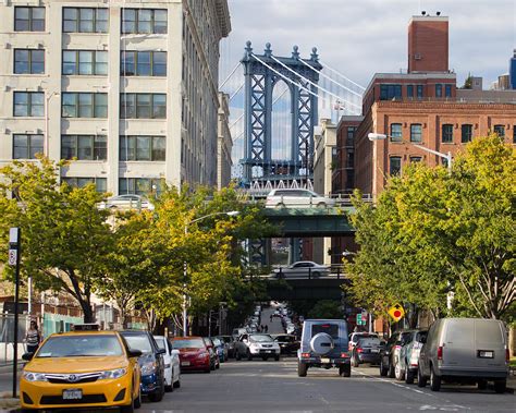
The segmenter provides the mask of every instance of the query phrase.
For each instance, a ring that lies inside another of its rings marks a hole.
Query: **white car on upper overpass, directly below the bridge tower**
[[[335,199],[303,189],[272,190],[266,198],[266,208],[333,207]]]

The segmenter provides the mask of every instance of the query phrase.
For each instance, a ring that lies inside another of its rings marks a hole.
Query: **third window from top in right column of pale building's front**
[[[122,119],[165,119],[167,95],[121,94],[120,117]]]

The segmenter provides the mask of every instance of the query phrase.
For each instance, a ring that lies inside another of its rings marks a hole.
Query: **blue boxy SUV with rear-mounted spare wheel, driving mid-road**
[[[308,368],[339,368],[349,377],[352,365],[347,353],[347,323],[343,319],[306,319],[300,348],[297,350],[297,375],[305,377]]]

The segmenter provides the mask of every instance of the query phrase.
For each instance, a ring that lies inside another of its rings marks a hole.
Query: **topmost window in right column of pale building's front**
[[[122,33],[167,33],[167,10],[122,9]]]

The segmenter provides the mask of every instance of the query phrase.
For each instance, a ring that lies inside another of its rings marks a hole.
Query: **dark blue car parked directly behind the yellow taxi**
[[[158,347],[149,331],[124,330],[120,332],[130,349],[139,350],[138,357],[142,369],[142,394],[150,401],[158,402],[164,394],[164,350]]]

